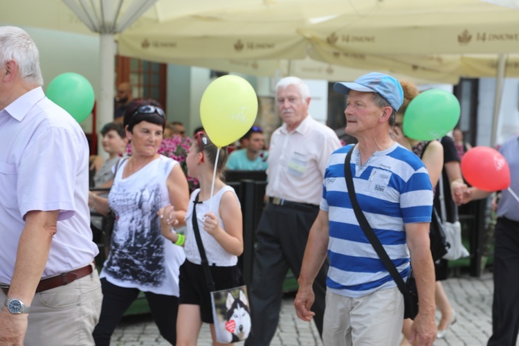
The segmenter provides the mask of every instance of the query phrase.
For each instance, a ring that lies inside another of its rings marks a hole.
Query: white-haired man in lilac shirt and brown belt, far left
[[[42,84],[33,40],[0,27],[0,345],[93,345],[89,147]]]

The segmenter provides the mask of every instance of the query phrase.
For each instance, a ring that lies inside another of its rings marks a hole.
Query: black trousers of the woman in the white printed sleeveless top
[[[96,346],[109,346],[110,338],[126,309],[136,300],[138,289],[127,289],[101,279],[102,308],[99,323],[93,331]],[[169,343],[176,343],[176,314],[179,311],[179,298],[174,295],[162,295],[145,292],[149,309],[158,331]]]

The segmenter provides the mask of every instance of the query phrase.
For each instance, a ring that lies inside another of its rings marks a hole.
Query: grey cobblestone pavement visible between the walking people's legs
[[[475,278],[462,275],[444,281],[444,289],[457,314],[457,322],[451,325],[446,337],[435,345],[473,346],[486,345],[492,330],[491,305],[492,274],[484,273]],[[303,322],[295,315],[293,296],[286,295],[282,303],[280,324],[271,345],[319,345],[322,343],[313,322]],[[203,325],[199,346],[211,345],[208,325]],[[125,318],[112,336],[111,345],[169,345],[158,333],[149,316]],[[235,345],[241,346],[243,343]],[[519,345],[519,343],[518,343]]]

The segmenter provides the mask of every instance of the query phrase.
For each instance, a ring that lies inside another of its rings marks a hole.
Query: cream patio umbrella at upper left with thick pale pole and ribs
[[[309,13],[312,15],[329,13],[332,11],[331,8],[325,9],[327,7],[323,8],[318,4],[340,2],[340,0],[321,2],[316,0],[1,0],[0,21],[18,26],[100,35],[100,88],[99,94],[96,95],[99,115],[97,125],[100,128],[100,125],[112,120],[113,56],[116,52],[114,35],[122,33],[129,26],[132,26],[134,32],[138,32],[163,21],[212,12],[241,11],[246,15],[261,11],[263,8],[283,9],[277,13],[278,19],[271,20],[274,23],[276,20],[304,18]],[[293,11],[294,6],[297,6],[295,11]],[[283,18],[280,19],[279,16]],[[295,51],[304,48],[298,46],[298,40],[304,41],[302,37],[298,39],[289,37],[288,41],[286,37],[277,39],[275,45],[280,47],[279,54],[286,57],[303,55],[303,49],[299,52]],[[189,42],[186,43],[189,46]],[[254,48],[257,51],[260,46]],[[268,47],[263,46],[263,48]]]

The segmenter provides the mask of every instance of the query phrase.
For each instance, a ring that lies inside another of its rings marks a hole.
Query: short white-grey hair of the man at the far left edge
[[[16,26],[0,26],[0,64],[15,60],[22,80],[43,85],[42,70],[39,68],[39,53],[29,34]]]

